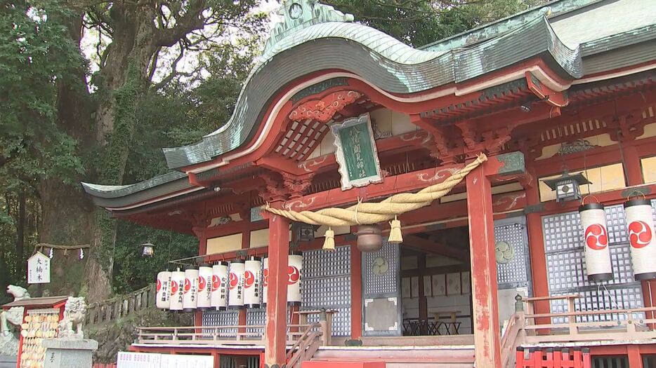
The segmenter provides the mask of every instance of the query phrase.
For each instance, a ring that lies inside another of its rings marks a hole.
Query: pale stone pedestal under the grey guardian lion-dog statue
[[[98,341],[82,339],[44,339],[44,368],[91,368]]]

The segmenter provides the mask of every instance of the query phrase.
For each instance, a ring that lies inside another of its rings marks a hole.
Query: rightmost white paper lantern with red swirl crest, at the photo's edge
[[[627,200],[624,212],[634,276],[636,280],[656,278],[656,240],[651,202],[646,199]]]

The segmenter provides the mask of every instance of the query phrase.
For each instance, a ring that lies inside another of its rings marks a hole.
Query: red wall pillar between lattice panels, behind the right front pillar
[[[526,188],[526,200],[529,206],[540,204],[539,186],[537,183]],[[528,231],[528,246],[531,254],[531,275],[533,282],[533,296],[549,296],[549,280],[546,274],[546,255],[544,254],[544,236],[542,231],[542,216],[537,212],[526,214],[526,226]],[[549,301],[536,301],[534,313],[549,313],[551,307]],[[536,324],[548,325],[549,318],[537,318]]]

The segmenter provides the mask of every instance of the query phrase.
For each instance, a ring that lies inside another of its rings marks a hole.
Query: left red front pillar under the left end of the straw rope
[[[287,338],[287,254],[289,220],[276,214],[269,217],[269,284],[266,298],[265,367],[286,364]]]

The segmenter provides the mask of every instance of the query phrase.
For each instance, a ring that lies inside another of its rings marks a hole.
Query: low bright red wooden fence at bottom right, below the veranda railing
[[[589,348],[517,348],[517,368],[591,368]]]

